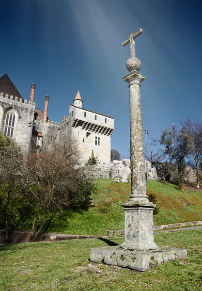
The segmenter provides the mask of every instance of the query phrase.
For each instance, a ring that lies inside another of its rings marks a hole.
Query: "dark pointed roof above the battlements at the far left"
[[[13,95],[14,99],[17,96],[18,101],[20,97],[22,98],[21,94],[19,93],[16,86],[14,85],[14,83],[11,81],[7,74],[0,77],[0,92],[3,92],[4,94],[7,93],[9,97],[10,95]],[[22,101],[24,102],[23,98]]]

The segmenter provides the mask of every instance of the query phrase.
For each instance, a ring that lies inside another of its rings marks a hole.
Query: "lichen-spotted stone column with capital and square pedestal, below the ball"
[[[129,201],[123,205],[125,240],[121,247],[128,250],[154,250],[157,249],[153,235],[155,205],[148,200],[146,195],[140,102],[140,83],[146,77],[133,69],[123,79],[129,84],[130,90],[131,195]]]

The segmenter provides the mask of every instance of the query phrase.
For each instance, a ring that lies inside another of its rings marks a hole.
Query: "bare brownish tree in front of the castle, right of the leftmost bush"
[[[91,203],[93,182],[81,166],[78,143],[74,139],[63,139],[54,143],[51,149],[44,147],[41,152],[30,155],[29,164],[34,164],[31,177],[30,201],[34,212],[34,222],[40,215],[43,226],[54,218],[62,208],[85,209]]]

